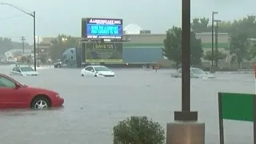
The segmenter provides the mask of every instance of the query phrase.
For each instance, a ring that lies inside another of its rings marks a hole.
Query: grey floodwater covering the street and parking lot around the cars
[[[8,66],[0,72],[9,74]],[[58,110],[0,111],[4,144],[111,144],[112,129],[132,115],[148,116],[166,129],[181,110],[181,78],[171,70],[114,70],[116,78],[82,78],[79,69],[39,70],[39,77],[13,77],[28,86],[56,90],[65,98]],[[191,79],[191,110],[206,123],[206,144],[219,143],[218,92],[254,93],[254,74],[215,74]],[[253,141],[253,123],[224,121],[227,144]]]

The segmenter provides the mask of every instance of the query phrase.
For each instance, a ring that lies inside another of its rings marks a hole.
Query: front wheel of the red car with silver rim
[[[45,97],[34,98],[31,108],[35,110],[44,110],[50,108],[50,102]]]

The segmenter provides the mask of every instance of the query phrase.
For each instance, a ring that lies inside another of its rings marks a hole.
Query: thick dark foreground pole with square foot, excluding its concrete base
[[[197,121],[190,111],[190,0],[182,0],[182,111],[174,111],[175,121]]]

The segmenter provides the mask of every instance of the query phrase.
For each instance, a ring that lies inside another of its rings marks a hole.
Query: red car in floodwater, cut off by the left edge
[[[25,86],[0,74],[0,109],[47,109],[63,103],[64,99],[52,90]]]

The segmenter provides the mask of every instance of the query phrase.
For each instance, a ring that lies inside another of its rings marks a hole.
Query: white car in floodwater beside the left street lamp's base
[[[38,76],[39,73],[34,71],[30,66],[15,66],[13,70],[10,70],[10,75]]]

